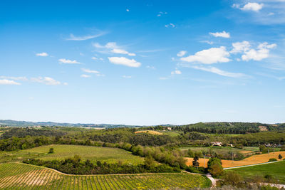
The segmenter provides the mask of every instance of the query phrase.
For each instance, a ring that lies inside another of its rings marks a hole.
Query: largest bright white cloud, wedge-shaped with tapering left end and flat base
[[[209,48],[207,50],[198,51],[195,55],[180,58],[180,60],[203,64],[226,63],[230,61],[229,56],[229,52],[227,52],[226,48],[221,46],[219,48]]]

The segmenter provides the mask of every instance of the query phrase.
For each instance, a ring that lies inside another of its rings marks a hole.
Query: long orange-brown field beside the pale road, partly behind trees
[[[252,157],[248,157],[246,159],[243,160],[238,160],[238,161],[232,161],[232,160],[225,160],[222,159],[222,167],[226,168],[226,167],[241,167],[241,166],[246,166],[246,165],[251,165],[251,164],[261,164],[261,163],[265,163],[268,162],[269,159],[271,158],[276,158],[278,159],[279,154],[282,155],[282,157],[285,157],[285,151],[282,152],[270,152],[269,154],[257,154],[254,155]],[[192,165],[192,158],[186,158],[187,159],[187,166]],[[209,159],[206,159],[206,167],[207,167],[207,162]],[[199,159],[198,161],[200,163],[200,167],[204,167],[204,159]]]

